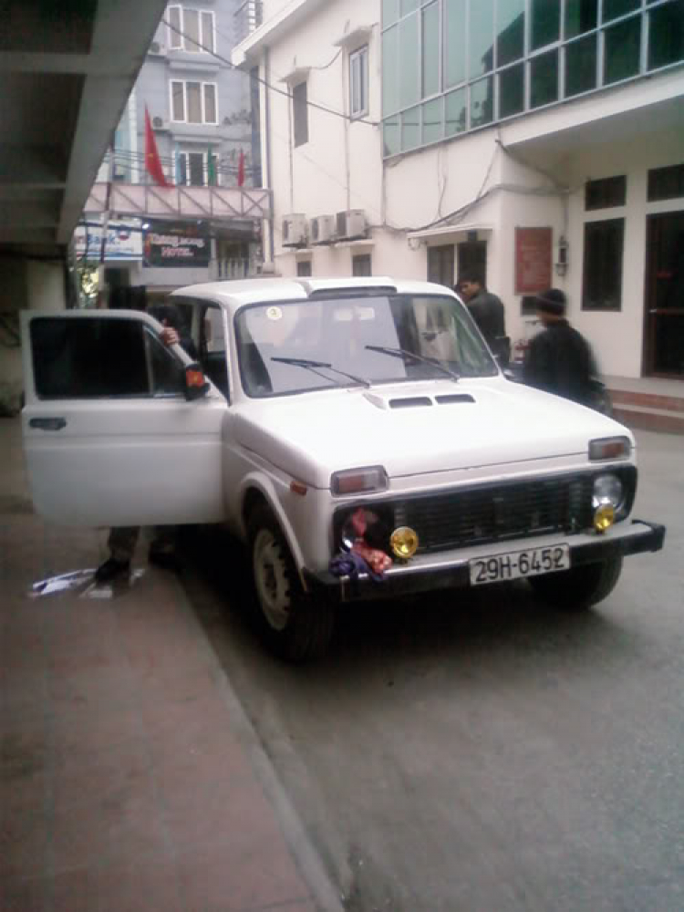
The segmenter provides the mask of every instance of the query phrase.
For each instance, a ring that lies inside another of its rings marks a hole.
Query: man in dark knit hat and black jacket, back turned
[[[527,351],[523,380],[531,387],[589,405],[593,358],[585,337],[565,319],[565,294],[549,288],[534,301],[544,325]]]

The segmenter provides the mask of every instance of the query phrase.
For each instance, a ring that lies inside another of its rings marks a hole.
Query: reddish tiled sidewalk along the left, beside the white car
[[[33,513],[18,420],[0,452],[0,910],[340,909],[175,576],[29,596],[105,535]]]

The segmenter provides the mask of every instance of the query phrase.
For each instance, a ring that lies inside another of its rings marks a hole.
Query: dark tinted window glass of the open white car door
[[[41,317],[31,322],[40,399],[181,393],[182,368],[138,320]]]

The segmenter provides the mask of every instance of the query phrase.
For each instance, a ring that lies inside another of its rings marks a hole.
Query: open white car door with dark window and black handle
[[[186,398],[191,358],[160,331],[138,311],[22,314],[26,468],[47,519],[223,520],[227,403],[211,385]]]

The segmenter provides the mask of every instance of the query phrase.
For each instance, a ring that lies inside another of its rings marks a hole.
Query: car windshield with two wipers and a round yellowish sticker
[[[235,337],[254,397],[498,372],[465,308],[439,295],[246,306]]]

